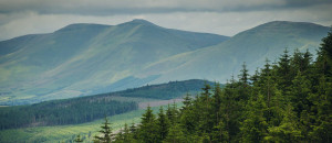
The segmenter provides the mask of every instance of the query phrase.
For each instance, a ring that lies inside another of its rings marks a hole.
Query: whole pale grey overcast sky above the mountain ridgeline
[[[72,23],[157,25],[232,36],[269,21],[332,25],[332,0],[0,0],[0,40]]]

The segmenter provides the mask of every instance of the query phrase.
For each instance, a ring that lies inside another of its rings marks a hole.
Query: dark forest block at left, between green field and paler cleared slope
[[[90,122],[105,114],[114,116],[137,109],[136,102],[110,98],[72,98],[29,106],[0,108],[0,130],[24,127],[60,125]]]

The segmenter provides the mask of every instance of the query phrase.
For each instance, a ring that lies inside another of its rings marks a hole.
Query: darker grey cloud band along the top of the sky
[[[0,13],[34,11],[44,14],[139,14],[168,12],[261,11],[312,7],[331,0],[2,0]]]

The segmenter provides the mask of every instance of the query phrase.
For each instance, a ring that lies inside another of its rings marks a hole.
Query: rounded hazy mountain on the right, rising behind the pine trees
[[[273,21],[240,32],[218,45],[155,62],[136,77],[160,74],[153,82],[190,78],[226,82],[231,75],[237,77],[243,62],[252,74],[266,58],[271,64],[286,48],[290,54],[295,48],[315,54],[328,31],[329,28],[313,23]]]

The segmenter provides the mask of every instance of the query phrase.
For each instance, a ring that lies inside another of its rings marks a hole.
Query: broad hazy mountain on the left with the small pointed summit
[[[0,103],[25,105],[146,85],[160,74],[134,75],[154,62],[228,38],[133,20],[118,25],[72,24],[2,41]]]

